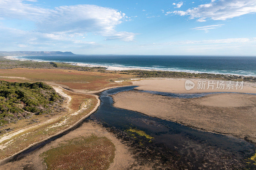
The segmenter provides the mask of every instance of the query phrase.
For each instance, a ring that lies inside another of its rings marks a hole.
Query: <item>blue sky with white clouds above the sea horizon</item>
[[[256,0],[0,0],[0,51],[256,55]]]

